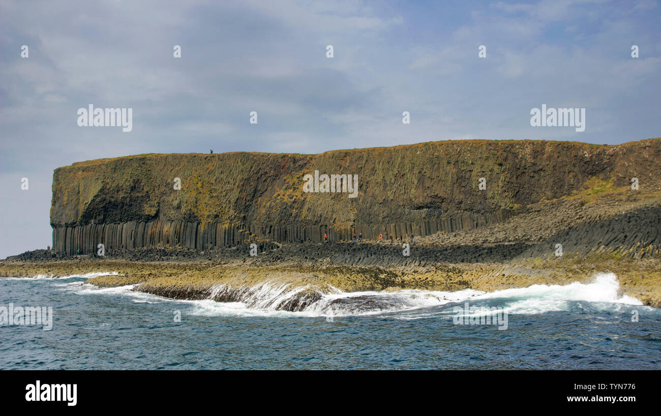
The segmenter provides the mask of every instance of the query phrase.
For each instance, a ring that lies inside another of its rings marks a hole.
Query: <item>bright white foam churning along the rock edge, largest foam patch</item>
[[[224,288],[225,286],[223,286]],[[220,287],[219,287],[220,288]],[[450,302],[475,303],[481,300],[502,299],[502,308],[513,314],[535,314],[568,310],[569,302],[590,302],[592,308],[621,310],[623,306],[641,306],[642,302],[631,296],[619,294],[617,276],[602,273],[595,276],[594,282],[584,284],[574,282],[561,285],[535,284],[527,288],[480,292],[459,290],[440,292],[432,290],[399,290],[397,292],[342,292],[331,288],[331,293],[307,306],[301,312],[276,311],[274,307],[284,300],[307,289],[307,286],[290,288],[289,285],[272,286],[259,284],[248,290],[242,300],[245,302],[221,303],[212,300],[194,302],[194,314],[199,315],[278,315],[278,316],[322,316],[341,317],[351,315],[378,315],[397,312],[401,319],[447,315],[444,310],[426,310]],[[491,302],[494,306],[493,302]],[[424,311],[419,311],[425,309]],[[408,313],[415,312],[415,313]]]

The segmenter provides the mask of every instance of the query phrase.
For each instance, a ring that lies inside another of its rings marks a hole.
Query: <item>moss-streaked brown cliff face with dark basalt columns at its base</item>
[[[356,198],[303,192],[304,176],[315,171],[358,175]],[[449,141],[319,155],[98,159],[56,169],[53,247],[72,255],[95,253],[98,243],[203,251],[252,239],[323,241],[324,233],[330,241],[354,233],[418,237],[502,222],[519,207],[581,192],[591,178],[626,187],[632,177],[645,192],[660,190],[661,139],[619,146]],[[480,178],[486,190],[479,189]]]

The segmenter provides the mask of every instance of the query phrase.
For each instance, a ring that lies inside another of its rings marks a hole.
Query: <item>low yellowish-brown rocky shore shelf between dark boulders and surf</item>
[[[136,284],[134,290],[180,300],[213,299],[217,302],[245,302],[253,288],[262,284],[305,288],[288,303],[275,305],[281,310],[297,311],[331,290],[356,292],[364,290],[422,289],[456,291],[467,288],[492,292],[506,288],[522,288],[533,284],[589,283],[602,272],[613,272],[620,282],[622,294],[633,296],[649,306],[661,307],[661,259],[635,259],[613,251],[601,251],[589,256],[510,258],[521,251],[520,245],[492,247],[412,247],[419,248],[426,259],[414,257],[402,260],[401,247],[384,243],[363,243],[344,247],[317,243],[307,247],[307,255],[299,245],[282,245],[265,251],[261,257],[250,257],[239,247],[231,253],[176,253],[169,259],[128,261],[122,258],[40,259],[44,253],[30,253],[32,259],[0,261],[0,276],[70,276],[89,272],[117,272],[116,275],[90,278],[98,287]],[[508,248],[509,246],[509,248]],[[463,251],[463,254],[452,254]],[[481,250],[491,261],[466,263],[434,261],[434,255],[444,259],[471,257]],[[338,254],[337,251],[342,253]],[[315,256],[311,255],[315,253]],[[324,253],[321,255],[320,253]],[[390,254],[390,255],[389,255]],[[134,255],[140,257],[140,255]],[[165,257],[163,253],[141,253]],[[203,257],[204,256],[204,257]],[[210,256],[212,259],[209,260]],[[216,257],[217,256],[217,257]],[[173,259],[174,257],[174,259]],[[500,257],[500,258],[498,258]],[[394,261],[397,260],[397,261]]]

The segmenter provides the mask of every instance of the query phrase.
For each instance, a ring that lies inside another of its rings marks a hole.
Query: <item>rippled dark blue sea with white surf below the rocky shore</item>
[[[661,368],[661,310],[620,296],[613,274],[492,293],[336,290],[302,312],[274,310],[301,288],[178,301],[91,276],[0,278],[0,321],[10,304],[52,307],[48,331],[0,325],[0,369]]]

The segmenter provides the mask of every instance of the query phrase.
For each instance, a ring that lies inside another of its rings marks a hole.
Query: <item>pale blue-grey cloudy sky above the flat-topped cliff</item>
[[[75,161],[659,137],[660,23],[655,0],[3,0],[0,258],[52,243]],[[89,104],[132,108],[132,131],[79,126]],[[541,104],[585,108],[585,130],[531,126]]]

